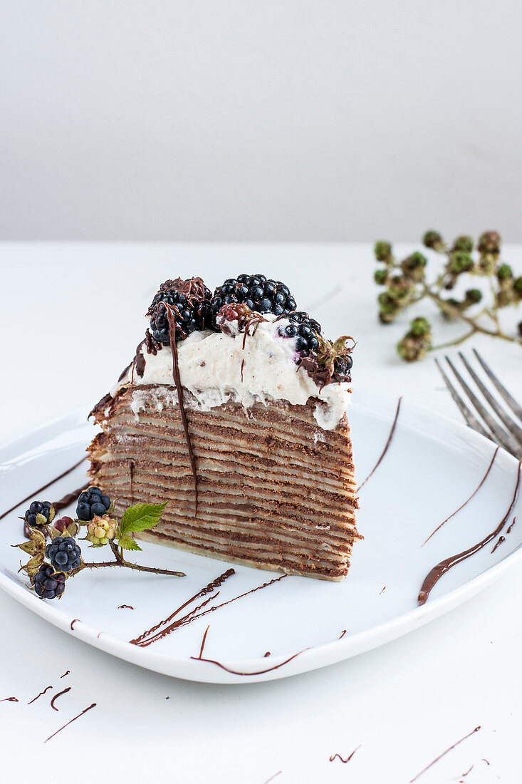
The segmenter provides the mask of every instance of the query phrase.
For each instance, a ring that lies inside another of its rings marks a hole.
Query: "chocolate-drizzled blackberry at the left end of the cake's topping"
[[[201,278],[189,278],[186,281],[176,278],[175,281],[162,283],[147,310],[153,337],[164,346],[169,346],[169,320],[165,305],[172,307],[175,314],[176,341],[184,340],[190,332],[204,329],[211,298],[212,292]]]

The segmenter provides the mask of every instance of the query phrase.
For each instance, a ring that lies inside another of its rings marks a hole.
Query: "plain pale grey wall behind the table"
[[[0,238],[522,241],[517,0],[0,14]]]

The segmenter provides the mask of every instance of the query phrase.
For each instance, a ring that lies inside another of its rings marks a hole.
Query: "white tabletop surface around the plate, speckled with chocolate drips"
[[[522,248],[505,256],[522,269]],[[78,406],[89,412],[132,358],[159,283],[178,274],[201,274],[211,287],[243,271],[285,281],[328,336],[342,329],[357,339],[354,394],[403,394],[459,419],[432,358],[412,365],[396,358],[407,318],[377,323],[374,268],[370,245],[3,243],[2,441]],[[420,305],[410,318],[417,314],[432,311]],[[458,326],[433,323],[440,341],[459,334]],[[520,347],[482,336],[468,345],[520,395]],[[19,699],[0,702],[0,769],[18,771],[12,781],[36,771],[61,778],[52,766],[63,764],[67,779],[82,782],[121,781],[125,771],[129,782],[393,784],[410,782],[480,725],[419,782],[459,781],[472,766],[466,784],[518,782],[519,598],[522,604],[522,579],[513,570],[373,652],[299,677],[226,687],[114,659],[0,594],[0,699]],[[49,694],[71,686],[59,713],[48,695],[27,705],[48,685]],[[43,744],[92,702],[96,710],[64,730],[59,743]],[[350,762],[330,761],[358,746]]]

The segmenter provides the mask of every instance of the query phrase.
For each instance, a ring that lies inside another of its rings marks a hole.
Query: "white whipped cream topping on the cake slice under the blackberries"
[[[225,335],[205,330],[192,332],[187,339],[179,341],[179,376],[183,387],[194,396],[188,405],[209,411],[227,402],[239,402],[249,408],[256,402],[266,405],[274,400],[305,405],[312,398],[318,426],[333,430],[349,404],[350,384],[329,383],[322,390],[317,387],[306,370],[295,365],[295,339],[279,334],[280,328],[284,331],[290,323],[288,319],[275,321],[270,314],[266,319],[246,337],[244,332]],[[142,351],[143,376],[132,365],[111,390],[113,397],[122,387],[173,386],[170,347],[163,346],[155,355],[147,354],[144,346]],[[143,394],[138,392],[133,403],[136,416],[143,407]],[[176,394],[168,397],[169,403],[177,405]]]

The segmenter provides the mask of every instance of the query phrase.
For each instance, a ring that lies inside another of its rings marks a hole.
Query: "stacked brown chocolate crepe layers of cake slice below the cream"
[[[196,514],[187,441],[170,391],[158,404],[158,387],[142,386],[137,407],[128,388],[109,411],[96,412],[103,432],[90,447],[90,474],[118,499],[116,514],[132,503],[167,500],[160,523],[143,538],[258,568],[343,579],[359,538],[346,416],[335,430],[321,430],[316,401],[201,411],[184,390]]]

